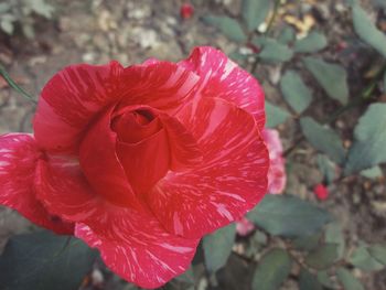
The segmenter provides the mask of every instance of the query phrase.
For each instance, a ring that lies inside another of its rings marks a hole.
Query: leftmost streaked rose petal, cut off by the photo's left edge
[[[41,155],[30,135],[0,137],[0,204],[17,210],[34,224],[57,234],[73,234],[72,224],[50,215],[35,197],[35,167]]]

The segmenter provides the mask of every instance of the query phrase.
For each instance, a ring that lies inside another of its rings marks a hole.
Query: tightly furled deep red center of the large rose
[[[112,118],[117,157],[137,193],[150,190],[170,167],[167,132],[157,114],[136,109]]]

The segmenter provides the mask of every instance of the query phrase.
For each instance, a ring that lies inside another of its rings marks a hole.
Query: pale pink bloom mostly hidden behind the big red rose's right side
[[[268,147],[269,152],[269,170],[268,170],[268,193],[280,194],[286,189],[287,174],[286,174],[286,160],[282,157],[282,144],[280,141],[279,131],[274,129],[264,129],[261,132],[264,140]],[[247,236],[255,229],[255,225],[243,217],[236,224],[237,234],[240,236]]]

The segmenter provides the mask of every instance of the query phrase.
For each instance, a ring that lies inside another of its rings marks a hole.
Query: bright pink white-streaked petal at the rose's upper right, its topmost
[[[249,73],[230,61],[223,52],[201,46],[193,50],[179,65],[201,77],[200,94],[219,97],[253,114],[258,128],[265,125],[264,90]]]

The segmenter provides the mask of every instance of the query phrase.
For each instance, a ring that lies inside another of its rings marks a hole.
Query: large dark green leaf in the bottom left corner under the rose
[[[11,237],[0,257],[1,289],[78,289],[96,251],[68,238],[49,232]]]

